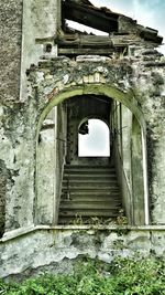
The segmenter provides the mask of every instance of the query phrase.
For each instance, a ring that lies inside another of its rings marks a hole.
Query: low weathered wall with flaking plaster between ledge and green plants
[[[12,236],[12,235],[11,235]],[[113,229],[98,226],[34,228],[13,233],[0,243],[0,276],[21,277],[43,273],[72,273],[82,256],[110,263],[114,257],[164,257],[165,231],[158,228]]]

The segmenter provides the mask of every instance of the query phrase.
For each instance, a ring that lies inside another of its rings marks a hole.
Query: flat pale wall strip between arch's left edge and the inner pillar
[[[55,109],[43,122],[37,143],[35,223],[53,223],[54,187],[55,187]],[[40,196],[40,201],[38,197]],[[48,196],[48,200],[47,197]]]

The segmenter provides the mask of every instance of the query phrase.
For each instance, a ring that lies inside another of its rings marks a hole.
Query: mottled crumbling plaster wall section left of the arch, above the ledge
[[[0,164],[6,178],[4,228],[10,231],[33,223],[35,125],[34,106],[10,104],[1,107]]]

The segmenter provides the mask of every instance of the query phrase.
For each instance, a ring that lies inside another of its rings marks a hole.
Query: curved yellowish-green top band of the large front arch
[[[54,87],[51,94],[46,96],[47,99],[45,99],[42,109],[40,110],[36,136],[38,137],[38,131],[42,126],[42,123],[54,106],[57,106],[58,104],[63,103],[64,101],[70,97],[74,96],[80,97],[81,95],[88,95],[88,94],[103,95],[106,97],[109,97],[110,99],[118,101],[123,105],[125,105],[134,114],[138,122],[140,123],[140,126],[143,129],[143,133],[145,134],[146,127],[145,127],[144,116],[140,106],[138,106],[138,101],[135,99],[132,91],[122,92],[107,84],[91,83],[77,86],[64,85],[64,87],[61,91]]]

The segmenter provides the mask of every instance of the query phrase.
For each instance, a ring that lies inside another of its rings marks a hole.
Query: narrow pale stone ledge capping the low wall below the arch
[[[165,224],[163,225],[31,225],[28,228],[21,228],[10,232],[6,232],[2,239],[0,239],[0,244],[8,242],[10,240],[16,239],[22,235],[30,234],[36,231],[79,231],[79,230],[97,230],[97,231],[165,231]]]

